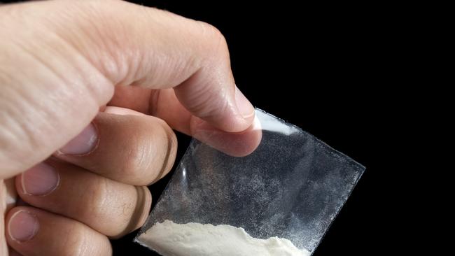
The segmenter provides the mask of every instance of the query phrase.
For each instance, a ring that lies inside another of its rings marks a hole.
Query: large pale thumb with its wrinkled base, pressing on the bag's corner
[[[9,63],[0,72],[3,177],[80,133],[113,85],[174,87],[192,115],[223,131],[253,122],[253,106],[235,97],[225,39],[208,24],[123,1],[43,1],[0,12],[13,24],[0,28],[2,38],[13,36],[0,42],[0,61]]]

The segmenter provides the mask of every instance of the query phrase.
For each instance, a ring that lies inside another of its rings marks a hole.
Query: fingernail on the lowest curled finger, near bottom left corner
[[[8,224],[11,239],[20,242],[32,239],[38,229],[39,223],[36,216],[24,210],[14,213]]]

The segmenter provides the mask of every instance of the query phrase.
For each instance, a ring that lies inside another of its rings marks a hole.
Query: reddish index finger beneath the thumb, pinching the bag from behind
[[[119,88],[120,89],[120,88]],[[236,90],[237,94],[241,94]],[[165,120],[170,127],[197,138],[198,140],[221,150],[228,155],[242,157],[249,155],[258,147],[262,138],[262,131],[258,120],[245,131],[230,133],[217,129],[213,125],[203,122],[200,118],[192,115],[176,98],[174,90],[165,89],[151,91],[145,88],[136,88],[132,91],[116,90],[116,96],[111,101],[111,105],[133,108],[142,113],[149,113],[162,120]],[[148,106],[144,104],[134,104],[132,99],[135,97],[150,98]],[[123,99],[123,100],[120,100]],[[108,106],[107,109],[113,113],[134,113],[126,108],[116,108]]]

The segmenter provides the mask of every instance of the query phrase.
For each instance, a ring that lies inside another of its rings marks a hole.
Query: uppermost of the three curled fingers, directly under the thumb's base
[[[176,151],[174,131],[159,118],[99,113],[56,156],[113,180],[148,185],[172,169]]]

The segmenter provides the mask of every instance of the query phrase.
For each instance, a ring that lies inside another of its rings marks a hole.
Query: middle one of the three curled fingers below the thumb
[[[111,237],[141,227],[152,202],[147,187],[118,183],[56,161],[22,173],[16,187],[31,206],[78,220]]]

